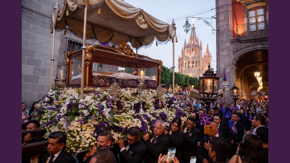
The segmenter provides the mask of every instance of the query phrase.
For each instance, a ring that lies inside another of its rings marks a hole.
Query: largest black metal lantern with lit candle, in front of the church
[[[209,113],[209,105],[212,101],[216,100],[218,94],[218,82],[220,77],[216,76],[209,64],[209,69],[204,72],[203,76],[199,77],[199,94],[200,100],[206,103],[206,114]]]

